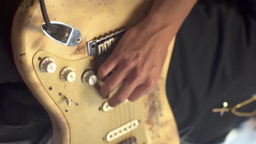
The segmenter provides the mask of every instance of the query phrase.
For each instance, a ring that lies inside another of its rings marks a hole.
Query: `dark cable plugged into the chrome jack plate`
[[[42,15],[43,15],[47,30],[52,34],[57,34],[57,29],[50,23],[50,20],[45,8],[44,0],[39,0],[39,3],[40,3],[40,8],[42,11]]]

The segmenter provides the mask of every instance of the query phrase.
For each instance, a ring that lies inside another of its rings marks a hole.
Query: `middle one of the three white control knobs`
[[[75,80],[75,72],[74,69],[71,67],[66,67],[61,70],[60,79],[63,82],[73,82]]]

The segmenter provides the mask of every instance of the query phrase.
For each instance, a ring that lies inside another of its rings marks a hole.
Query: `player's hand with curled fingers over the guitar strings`
[[[105,80],[100,89],[103,98],[107,98],[121,83],[117,93],[108,100],[110,106],[117,106],[126,99],[135,101],[156,85],[166,60],[168,45],[174,37],[169,29],[168,26],[150,26],[144,20],[123,35],[97,72],[98,79]],[[114,72],[106,79],[113,69]]]

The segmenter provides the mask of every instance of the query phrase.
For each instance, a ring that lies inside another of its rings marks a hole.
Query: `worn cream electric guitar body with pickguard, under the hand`
[[[85,71],[96,72],[102,63],[89,56],[88,41],[120,27],[135,25],[146,15],[152,2],[54,0],[45,1],[45,4],[50,20],[79,29],[82,42],[78,46],[65,46],[47,37],[41,29],[44,21],[39,2],[34,0],[23,1],[17,10],[11,41],[22,79],[49,113],[53,123],[53,142],[179,143],[176,122],[165,93],[174,39],[158,85],[153,92],[134,103],[127,101],[108,109],[104,105],[106,100],[98,94],[102,82],[90,86],[82,81]],[[40,70],[45,67],[40,64],[46,63],[48,57],[54,61],[48,68],[53,73]],[[61,75],[62,70],[69,70],[66,76],[72,82],[61,80],[65,77],[65,73]]]

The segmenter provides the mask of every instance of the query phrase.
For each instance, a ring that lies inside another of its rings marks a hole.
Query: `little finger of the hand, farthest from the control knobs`
[[[155,83],[154,80],[147,80],[143,84],[137,86],[128,99],[130,101],[136,101],[143,94],[149,92],[150,89],[155,86]]]

